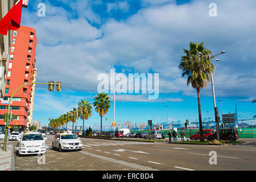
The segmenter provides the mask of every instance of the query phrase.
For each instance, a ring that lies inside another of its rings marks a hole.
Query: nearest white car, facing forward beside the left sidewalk
[[[28,132],[19,139],[19,154],[45,154],[46,143],[43,135],[39,132]]]

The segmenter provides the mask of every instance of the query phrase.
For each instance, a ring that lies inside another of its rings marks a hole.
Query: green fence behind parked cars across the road
[[[215,130],[215,129],[213,129]],[[256,138],[256,128],[238,128],[238,135],[239,138]],[[150,130],[143,130],[143,131],[131,131],[131,132],[149,132]],[[165,137],[169,138],[168,133],[170,130],[162,130],[163,133],[165,133]],[[183,130],[185,132],[185,136],[187,137],[187,133],[189,133],[189,137],[190,135],[194,135],[196,134],[199,129],[187,129],[187,130]],[[181,130],[178,129],[178,137],[181,138]]]

